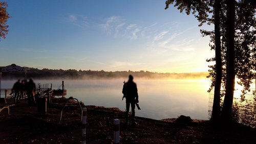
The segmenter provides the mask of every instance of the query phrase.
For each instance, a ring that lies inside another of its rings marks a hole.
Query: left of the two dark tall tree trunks
[[[221,60],[221,36],[220,36],[220,0],[214,4],[215,15],[215,58],[216,58],[216,79],[214,87],[214,104],[212,106],[211,120],[218,121],[220,118],[220,91],[222,80],[222,60]]]

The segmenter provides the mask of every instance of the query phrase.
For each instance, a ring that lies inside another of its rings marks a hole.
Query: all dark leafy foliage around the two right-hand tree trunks
[[[256,71],[256,38],[255,38],[255,28],[256,28],[256,20],[255,20],[255,8],[256,4],[255,1],[251,0],[239,0],[235,1],[234,8],[235,8],[235,21],[234,21],[234,39],[232,38],[232,35],[227,35],[227,30],[230,28],[230,26],[227,26],[227,23],[230,21],[227,21],[227,13],[230,9],[227,9],[226,1],[220,1],[220,5],[218,3],[215,4],[216,1],[191,1],[191,0],[167,0],[165,2],[167,9],[169,5],[174,4],[174,7],[177,7],[180,12],[185,11],[186,14],[192,13],[200,22],[199,26],[202,26],[204,23],[207,23],[208,25],[215,25],[215,12],[216,7],[220,8],[220,11],[217,11],[216,13],[219,13],[220,17],[220,23],[218,23],[220,28],[220,40],[221,40],[221,64],[222,64],[222,90],[220,91],[220,95],[225,95],[225,92],[228,97],[232,98],[231,94],[233,91],[232,88],[232,81],[234,80],[234,75],[238,78],[238,83],[244,87],[242,90],[241,100],[244,101],[244,94],[246,94],[250,90],[250,84],[252,83],[252,79],[255,78],[255,71]],[[230,4],[230,3],[228,3]],[[231,6],[231,5],[230,5]],[[233,6],[233,5],[232,5]],[[230,7],[233,8],[233,7]],[[232,18],[230,20],[233,20]],[[209,36],[210,37],[210,49],[211,50],[218,50],[216,49],[216,35],[217,33],[214,30],[200,30],[203,36]],[[228,31],[229,32],[229,31]],[[227,52],[227,44],[232,42],[234,40],[234,46],[231,44],[229,45],[228,50],[233,50],[234,47],[234,58],[230,57],[233,56]],[[217,59],[218,58],[218,59]],[[231,58],[231,59],[229,59]],[[210,59],[207,59],[207,62],[217,62],[217,60],[220,61],[220,57],[212,57]],[[231,61],[229,61],[231,60]],[[234,62],[232,61],[234,60]],[[219,63],[219,62],[218,62]],[[233,66],[234,64],[234,66]],[[229,69],[227,69],[227,67]],[[231,67],[231,69],[230,69]],[[217,82],[216,76],[217,76],[217,67],[216,64],[209,65],[209,75],[207,78],[211,78],[211,85],[208,90],[210,92],[212,89],[214,89],[215,84]],[[234,68],[234,73],[233,73]],[[218,67],[218,69],[220,69]],[[229,72],[227,72],[229,70]],[[218,71],[218,74],[220,72]],[[232,77],[227,81],[227,73],[228,75]],[[220,75],[219,75],[220,76]],[[228,83],[227,83],[228,82]],[[228,91],[226,91],[226,86],[229,86],[227,88]],[[230,93],[230,95],[228,94]],[[232,99],[231,99],[232,102]],[[228,105],[230,103],[228,102]],[[231,103],[232,104],[232,103]],[[230,104],[230,107],[232,106]],[[228,106],[229,107],[229,106]],[[229,108],[230,108],[229,107]],[[236,110],[236,109],[234,109]]]

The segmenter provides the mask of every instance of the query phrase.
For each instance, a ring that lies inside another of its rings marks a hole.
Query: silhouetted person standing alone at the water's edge
[[[132,108],[132,121],[133,125],[135,123],[135,104],[139,103],[139,95],[138,95],[138,89],[135,82],[133,82],[133,76],[129,76],[128,82],[124,83],[123,90],[122,90],[123,96],[125,97],[125,103],[126,103],[126,112],[125,112],[125,118],[126,118],[126,125],[129,123],[129,110],[130,110],[130,104]]]

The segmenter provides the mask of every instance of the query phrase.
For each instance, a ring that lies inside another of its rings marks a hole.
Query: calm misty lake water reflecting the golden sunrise
[[[125,80],[126,81],[126,80]],[[152,80],[134,79],[137,83],[139,105],[136,116],[164,119],[180,115],[193,119],[208,119],[208,79]],[[3,81],[1,88],[11,88],[15,81]],[[38,83],[52,83],[59,88],[62,80],[34,80]],[[64,80],[66,97],[73,97],[85,105],[118,107],[125,110],[122,101],[123,79]],[[60,87],[62,88],[62,87]]]

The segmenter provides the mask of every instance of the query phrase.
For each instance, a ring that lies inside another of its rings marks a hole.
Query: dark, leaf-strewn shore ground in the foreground
[[[67,100],[67,99],[66,99]],[[63,99],[64,101],[64,99]],[[60,103],[60,102],[58,102]],[[62,102],[63,104],[63,102]],[[11,106],[11,114],[0,114],[0,143],[81,143],[80,111],[75,103],[47,107],[46,114],[26,100]],[[193,119],[178,123],[177,118],[163,121],[136,116],[138,125],[125,126],[124,111],[100,106],[87,107],[86,142],[113,143],[113,119],[120,119],[120,143],[253,143],[256,130],[239,124],[213,126],[209,121]],[[78,110],[78,113],[76,113]]]

